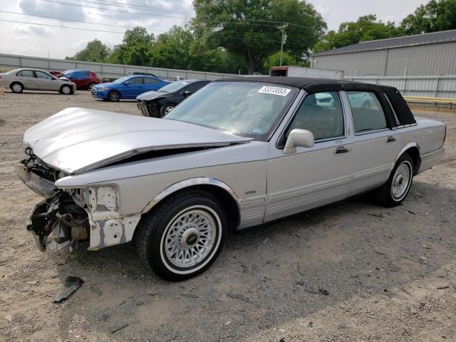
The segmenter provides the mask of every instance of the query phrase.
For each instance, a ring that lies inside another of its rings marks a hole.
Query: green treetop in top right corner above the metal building
[[[406,35],[456,28],[456,0],[431,0],[400,23]]]

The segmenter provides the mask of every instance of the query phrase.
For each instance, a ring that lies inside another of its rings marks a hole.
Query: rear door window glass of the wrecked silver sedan
[[[355,133],[387,128],[385,113],[375,93],[347,91]]]

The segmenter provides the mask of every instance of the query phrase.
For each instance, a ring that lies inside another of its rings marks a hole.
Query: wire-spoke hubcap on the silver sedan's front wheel
[[[216,224],[202,209],[191,209],[170,223],[165,238],[166,257],[178,267],[199,264],[212,249]]]

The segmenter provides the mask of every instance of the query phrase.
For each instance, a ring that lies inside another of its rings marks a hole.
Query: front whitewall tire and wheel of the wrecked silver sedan
[[[142,217],[136,228],[134,242],[141,261],[167,281],[181,281],[201,273],[217,259],[227,237],[227,217],[222,208],[219,200],[207,192],[187,190],[170,195]],[[203,217],[203,223],[196,226],[192,219],[182,224],[182,217],[195,217],[197,222]],[[210,223],[214,224],[212,230]],[[207,224],[207,230],[211,232],[198,230],[205,229],[202,224]],[[202,237],[200,234],[207,235]],[[182,244],[193,245],[185,249]],[[176,248],[170,250],[174,246]],[[195,249],[198,254],[195,254]],[[190,260],[196,259],[184,267],[182,262],[187,259],[187,253]]]

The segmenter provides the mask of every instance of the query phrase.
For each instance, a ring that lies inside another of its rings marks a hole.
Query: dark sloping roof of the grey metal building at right
[[[381,50],[384,48],[398,48],[402,46],[414,46],[432,43],[447,43],[456,41],[456,30],[415,34],[397,38],[378,39],[376,41],[363,41],[358,44],[334,48],[333,50],[322,51],[314,54],[315,57],[337,55],[339,53],[351,53],[359,51]]]

